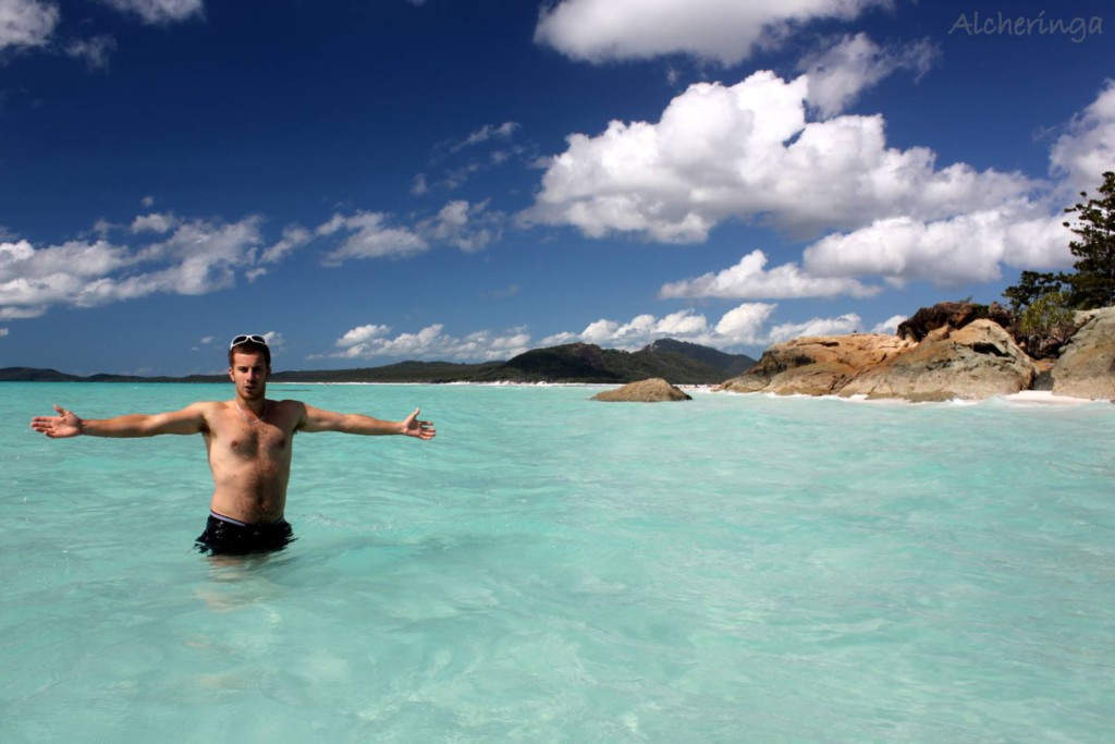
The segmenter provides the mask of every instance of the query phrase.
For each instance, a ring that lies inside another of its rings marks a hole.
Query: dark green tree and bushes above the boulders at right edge
[[[1076,310],[1115,305],[1115,172],[1104,173],[1098,196],[1065,210],[1076,214],[1065,226],[1078,236],[1068,244],[1077,261],[1066,272],[1024,271],[1002,296],[1018,315],[1016,337],[1036,357],[1056,354],[1075,331]]]

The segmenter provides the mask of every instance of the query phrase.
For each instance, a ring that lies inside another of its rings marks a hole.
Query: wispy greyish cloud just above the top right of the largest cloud
[[[860,94],[899,69],[924,75],[939,56],[929,41],[905,48],[882,48],[866,33],[845,36],[823,52],[802,60],[808,78],[808,100],[823,117],[835,116],[851,106]]]

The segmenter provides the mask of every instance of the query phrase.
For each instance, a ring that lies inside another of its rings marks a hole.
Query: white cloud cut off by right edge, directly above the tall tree
[[[1094,192],[1103,174],[1115,170],[1115,80],[1108,80],[1096,99],[1073,117],[1054,144],[1049,164],[1064,180],[1067,199]]]

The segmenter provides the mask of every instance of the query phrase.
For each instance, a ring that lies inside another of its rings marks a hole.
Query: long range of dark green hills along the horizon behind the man
[[[631,383],[662,377],[675,385],[714,385],[736,377],[755,360],[706,346],[662,339],[638,350],[602,349],[593,344],[566,344],[533,349],[507,361],[455,364],[401,361],[382,367],[279,371],[272,383]],[[6,383],[222,383],[224,375],[79,377],[55,369],[0,368]]]

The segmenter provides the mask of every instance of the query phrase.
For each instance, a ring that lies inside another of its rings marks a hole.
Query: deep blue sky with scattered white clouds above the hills
[[[1001,299],[1115,167],[1108,8],[0,0],[0,366],[757,357]]]

